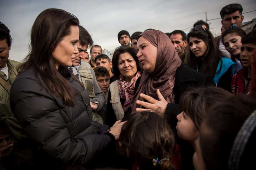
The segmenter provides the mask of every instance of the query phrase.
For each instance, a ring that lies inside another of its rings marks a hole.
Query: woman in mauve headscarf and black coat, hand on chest
[[[163,115],[165,110],[173,110],[172,104],[179,103],[180,96],[188,87],[214,85],[209,75],[181,63],[171,40],[161,31],[141,33],[137,48],[137,57],[144,71],[135,85],[132,112],[153,111]],[[177,105],[175,112],[179,114]]]

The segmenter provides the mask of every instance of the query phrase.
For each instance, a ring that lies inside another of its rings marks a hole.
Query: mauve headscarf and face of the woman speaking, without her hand
[[[138,47],[137,57],[144,72],[134,100],[140,99],[138,95],[140,93],[157,99],[156,90],[159,89],[167,102],[174,103],[172,89],[175,72],[180,67],[181,60],[173,50],[171,40],[161,31],[149,30],[141,33],[138,41],[140,41],[140,47]]]

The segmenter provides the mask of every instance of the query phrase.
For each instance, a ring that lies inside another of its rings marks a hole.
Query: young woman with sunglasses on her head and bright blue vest
[[[222,54],[213,40],[212,33],[198,25],[190,30],[187,41],[190,45],[188,66],[201,73],[209,74],[216,86],[230,91],[236,64]]]

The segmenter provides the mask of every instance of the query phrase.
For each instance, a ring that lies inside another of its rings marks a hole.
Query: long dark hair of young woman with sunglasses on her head
[[[201,63],[200,58],[196,57],[196,55],[189,48],[188,66],[195,70],[198,66],[198,71],[200,71],[203,74],[210,74],[212,77],[214,77],[218,63],[219,61],[221,61],[220,57],[223,55],[221,54],[218,46],[213,40],[214,38],[212,36],[212,33],[207,29],[204,30],[203,28],[200,30],[193,29],[190,33],[188,33],[188,38],[187,38],[188,44],[189,44],[190,37],[196,37],[203,40],[207,46],[207,50],[204,53],[204,56],[202,56],[204,57],[204,59]],[[221,62],[221,66],[222,66],[222,62]],[[221,67],[220,67],[220,70],[221,70]]]

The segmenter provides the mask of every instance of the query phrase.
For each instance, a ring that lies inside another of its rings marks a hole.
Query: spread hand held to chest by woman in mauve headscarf
[[[156,100],[153,97],[150,97],[146,94],[140,93],[140,97],[147,100],[148,102],[137,100],[136,103],[138,105],[141,105],[142,107],[146,108],[136,108],[136,111],[151,111],[157,113],[158,115],[164,115],[168,102],[164,99],[159,89],[157,89],[156,94],[159,100]]]

